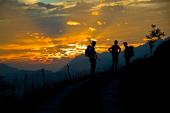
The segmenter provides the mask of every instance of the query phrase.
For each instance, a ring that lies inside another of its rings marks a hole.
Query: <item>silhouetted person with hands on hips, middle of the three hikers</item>
[[[118,60],[119,60],[119,53],[121,52],[121,48],[118,45],[118,41],[114,41],[114,45],[108,49],[110,53],[112,53],[112,69],[117,69]]]

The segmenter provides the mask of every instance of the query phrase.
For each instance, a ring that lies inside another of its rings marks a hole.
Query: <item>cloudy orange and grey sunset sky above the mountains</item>
[[[151,24],[170,34],[169,0],[80,1],[0,0],[0,63],[57,70],[84,54],[90,40],[102,53],[115,39],[121,47],[145,43]]]

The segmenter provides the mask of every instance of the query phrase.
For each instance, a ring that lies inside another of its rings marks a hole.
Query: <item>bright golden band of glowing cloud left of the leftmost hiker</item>
[[[89,44],[86,33],[72,37],[45,37],[42,33],[27,33],[27,37],[19,38],[13,44],[1,44],[0,50],[8,54],[0,56],[1,61],[23,61],[27,63],[50,63],[54,59],[75,58],[83,54]],[[82,38],[83,40],[77,40]]]

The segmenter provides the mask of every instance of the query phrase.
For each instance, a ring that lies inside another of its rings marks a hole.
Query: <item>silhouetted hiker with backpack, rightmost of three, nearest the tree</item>
[[[127,42],[124,42],[123,45],[125,46],[124,57],[126,61],[126,66],[130,64],[130,59],[134,56],[134,47],[128,46]]]

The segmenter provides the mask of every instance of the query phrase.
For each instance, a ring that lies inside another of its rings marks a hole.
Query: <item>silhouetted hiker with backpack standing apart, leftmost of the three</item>
[[[89,57],[89,61],[91,63],[91,74],[93,77],[95,77],[96,58],[97,58],[95,45],[96,45],[96,41],[92,41],[91,45],[88,45],[87,49],[85,50],[85,55]]]

